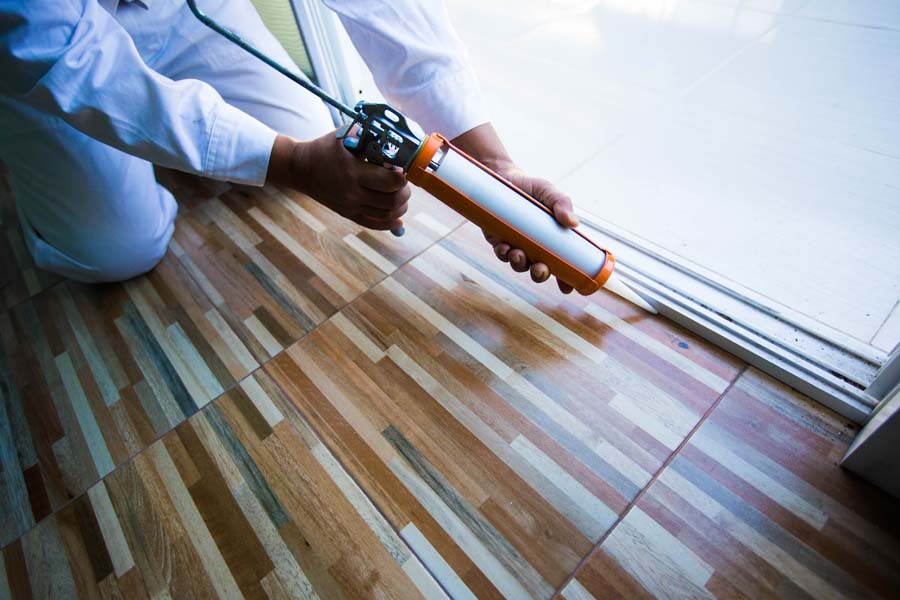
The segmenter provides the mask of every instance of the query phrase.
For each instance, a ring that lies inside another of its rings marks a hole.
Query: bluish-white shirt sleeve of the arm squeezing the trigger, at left
[[[96,0],[0,0],[0,94],[153,163],[265,181],[275,132],[208,84],[148,67]]]

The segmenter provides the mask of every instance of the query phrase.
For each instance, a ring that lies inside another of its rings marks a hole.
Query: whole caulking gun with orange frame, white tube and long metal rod
[[[611,252],[581,231],[559,225],[550,209],[440,134],[419,139],[406,118],[387,104],[363,101],[350,108],[211,19],[197,7],[196,0],[187,3],[203,24],[350,117],[351,122],[338,132],[348,151],[377,165],[400,167],[408,181],[484,231],[514,248],[521,248],[532,261],[546,264],[556,277],[579,293],[588,295],[604,287],[647,311],[656,312],[614,275],[616,262]],[[402,235],[403,231],[393,233]]]

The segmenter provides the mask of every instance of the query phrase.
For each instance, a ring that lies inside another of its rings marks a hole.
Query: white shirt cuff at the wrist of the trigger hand
[[[223,102],[210,134],[203,174],[212,179],[263,185],[276,136],[268,125]]]

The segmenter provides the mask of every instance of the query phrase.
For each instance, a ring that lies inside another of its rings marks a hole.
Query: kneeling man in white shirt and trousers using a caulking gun
[[[440,0],[323,2],[390,102],[577,224],[568,198],[510,160]],[[290,64],[249,0],[200,6]],[[404,176],[354,158],[332,129],[321,101],[206,28],[183,0],[0,0],[0,160],[41,268],[88,282],[152,269],[177,212],[152,164],[290,186],[365,227],[397,227]],[[549,278],[522,250],[488,241],[516,271]]]

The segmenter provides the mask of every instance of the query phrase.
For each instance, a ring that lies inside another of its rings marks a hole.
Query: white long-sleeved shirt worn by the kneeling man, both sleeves
[[[452,138],[487,121],[440,0],[323,1],[388,101],[426,131]],[[0,94],[155,164],[262,184],[276,132],[209,85],[149,68],[104,2],[0,0]]]

